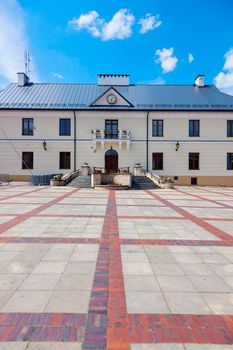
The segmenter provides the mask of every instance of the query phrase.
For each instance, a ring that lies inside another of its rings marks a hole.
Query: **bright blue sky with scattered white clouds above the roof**
[[[232,0],[0,0],[0,86],[32,57],[35,82],[193,83],[233,94]]]

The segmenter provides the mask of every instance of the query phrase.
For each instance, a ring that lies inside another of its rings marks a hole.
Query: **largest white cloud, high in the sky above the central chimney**
[[[98,12],[90,11],[72,19],[69,25],[75,30],[86,29],[92,36],[107,41],[129,38],[132,35],[134,22],[134,15],[127,9],[121,9],[109,22],[101,19]]]

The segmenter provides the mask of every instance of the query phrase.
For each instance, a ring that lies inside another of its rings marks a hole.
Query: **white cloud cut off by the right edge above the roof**
[[[224,55],[224,58],[223,72],[220,72],[214,81],[217,88],[233,95],[233,48]]]

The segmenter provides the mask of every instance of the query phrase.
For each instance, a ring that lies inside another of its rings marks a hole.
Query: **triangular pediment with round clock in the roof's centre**
[[[91,106],[133,107],[133,105],[113,87],[109,88],[92,102]]]

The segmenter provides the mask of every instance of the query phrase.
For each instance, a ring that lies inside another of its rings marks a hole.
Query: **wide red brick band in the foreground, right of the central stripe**
[[[131,343],[233,344],[233,316],[130,314]]]

